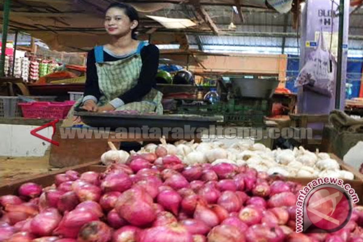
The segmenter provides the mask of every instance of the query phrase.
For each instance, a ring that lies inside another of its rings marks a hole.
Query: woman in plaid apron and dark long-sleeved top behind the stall
[[[159,49],[136,40],[138,24],[138,13],[130,5],[114,3],[107,8],[105,28],[111,42],[88,53],[85,92],[78,103],[81,108],[163,113],[162,93],[153,88]]]

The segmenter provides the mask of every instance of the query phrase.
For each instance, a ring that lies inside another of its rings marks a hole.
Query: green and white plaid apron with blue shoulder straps
[[[102,93],[97,106],[107,104],[137,84],[142,67],[140,52],[146,44],[141,41],[134,54],[118,61],[103,61],[103,46],[95,48],[98,85]],[[163,94],[153,88],[138,102],[127,103],[116,108],[116,111],[136,110],[140,113],[156,112],[162,115],[162,97]],[[82,100],[77,101],[75,106],[81,102]],[[73,108],[70,112],[73,114]]]

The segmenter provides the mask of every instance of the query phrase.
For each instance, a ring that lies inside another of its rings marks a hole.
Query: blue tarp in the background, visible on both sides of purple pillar
[[[347,63],[347,83],[352,84],[351,91],[346,92],[347,98],[359,97],[360,79],[362,77],[363,58],[348,57]],[[295,78],[299,74],[299,56],[289,55],[286,68],[286,88],[293,93],[297,92],[294,87]]]

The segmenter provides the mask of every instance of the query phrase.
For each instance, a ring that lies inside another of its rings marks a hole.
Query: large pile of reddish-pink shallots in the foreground
[[[363,206],[331,234],[295,232],[300,184],[166,152],[0,197],[0,242],[362,242]]]

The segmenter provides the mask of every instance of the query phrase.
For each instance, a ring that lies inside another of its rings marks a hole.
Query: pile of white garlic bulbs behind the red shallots
[[[169,155],[178,156],[187,165],[231,163],[238,166],[248,165],[269,175],[354,179],[354,174],[341,170],[339,163],[331,159],[328,153],[318,151],[314,153],[303,147],[293,150],[278,148],[272,151],[263,144],[245,140],[238,141],[229,147],[221,141],[194,143],[181,140],[175,144],[166,144],[164,139],[161,141],[160,145],[148,144],[138,153],[156,152],[157,147],[161,146]]]

